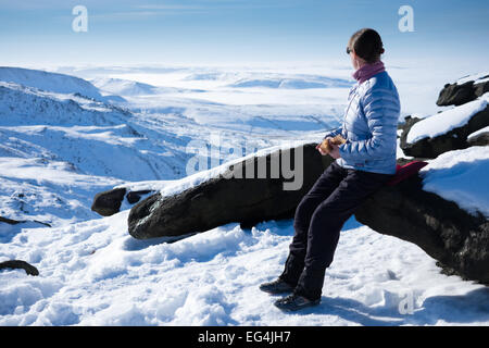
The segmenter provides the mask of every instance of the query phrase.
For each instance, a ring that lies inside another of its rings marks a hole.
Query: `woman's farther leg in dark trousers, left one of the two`
[[[346,177],[347,171],[333,162],[314,183],[313,187],[302,198],[296,209],[293,220],[294,236],[289,246],[285,270],[279,276],[286,283],[296,286],[304,269],[304,259],[308,249],[308,231],[311,216],[321,204]]]

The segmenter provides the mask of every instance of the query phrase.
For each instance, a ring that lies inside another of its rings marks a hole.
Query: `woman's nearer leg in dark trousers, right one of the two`
[[[317,206],[308,231],[304,269],[296,293],[321,298],[325,270],[333,262],[344,222],[365,199],[385,185],[391,175],[348,170],[347,177]]]

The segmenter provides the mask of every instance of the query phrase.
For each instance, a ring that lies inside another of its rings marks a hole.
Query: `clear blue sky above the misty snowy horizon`
[[[88,9],[88,32],[72,9]],[[414,32],[401,33],[401,5]],[[344,59],[373,27],[386,57],[489,62],[487,0],[0,0],[0,64],[246,63]]]

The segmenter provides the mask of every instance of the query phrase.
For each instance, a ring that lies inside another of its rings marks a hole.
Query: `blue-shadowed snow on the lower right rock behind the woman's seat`
[[[475,146],[464,150],[449,151],[431,160],[422,170],[424,189],[473,214],[489,217],[489,151]]]

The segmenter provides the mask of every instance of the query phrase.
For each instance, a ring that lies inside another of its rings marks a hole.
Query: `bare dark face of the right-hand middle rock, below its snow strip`
[[[423,138],[418,141],[409,144],[406,141],[409,132],[403,132],[401,135],[401,149],[406,156],[434,159],[447,151],[468,148],[471,144],[467,141],[467,137],[472,133],[487,127],[488,125],[489,107],[474,114],[464,126],[453,128],[437,137]]]

